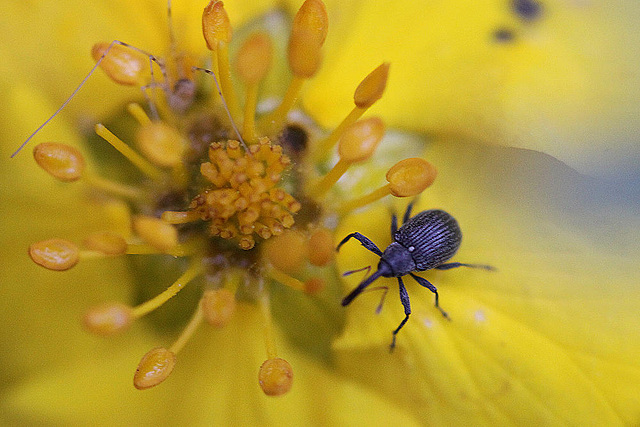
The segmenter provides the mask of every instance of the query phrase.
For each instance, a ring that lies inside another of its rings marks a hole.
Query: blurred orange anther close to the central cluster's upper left
[[[136,133],[140,151],[152,163],[162,167],[181,164],[187,142],[180,132],[163,122],[142,126]]]

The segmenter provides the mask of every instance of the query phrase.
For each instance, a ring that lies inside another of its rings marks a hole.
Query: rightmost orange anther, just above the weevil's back
[[[389,191],[396,197],[416,196],[433,184],[438,174],[435,166],[420,158],[402,160],[387,172]]]

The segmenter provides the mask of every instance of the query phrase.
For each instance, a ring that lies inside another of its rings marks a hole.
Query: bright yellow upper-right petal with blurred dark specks
[[[635,2],[541,2],[520,19],[501,0],[328,1],[325,66],[304,106],[325,125],[353,88],[392,64],[373,108],[392,127],[531,148],[584,171],[630,171],[640,156]],[[513,41],[495,42],[508,29]]]

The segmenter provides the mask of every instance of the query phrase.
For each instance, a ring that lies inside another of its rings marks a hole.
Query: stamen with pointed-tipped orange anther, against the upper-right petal
[[[324,141],[316,145],[313,151],[314,160],[320,160],[326,157],[326,153],[330,152],[342,133],[382,97],[387,86],[388,77],[389,63],[385,62],[360,82],[353,95],[353,101],[356,106]]]

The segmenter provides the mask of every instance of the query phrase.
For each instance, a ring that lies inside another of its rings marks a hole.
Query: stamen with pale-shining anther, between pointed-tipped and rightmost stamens
[[[340,160],[316,185],[309,188],[312,197],[322,197],[354,163],[373,155],[384,136],[384,123],[378,117],[361,120],[345,130],[338,145]]]

